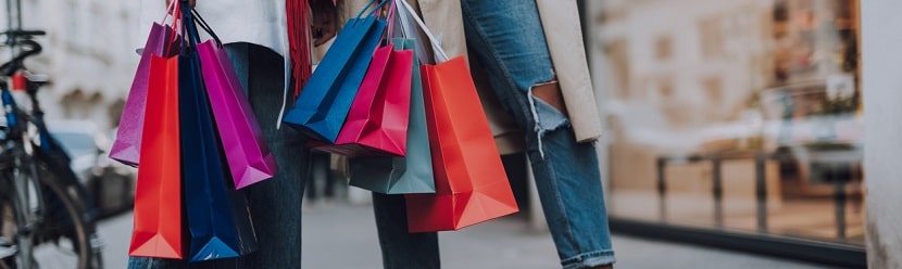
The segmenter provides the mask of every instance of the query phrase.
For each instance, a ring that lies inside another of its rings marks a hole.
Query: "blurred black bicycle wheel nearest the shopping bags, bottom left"
[[[36,268],[102,268],[95,223],[83,203],[87,197],[74,175],[40,153],[20,166],[4,169],[0,177],[39,179],[43,215],[30,233]],[[28,253],[23,251],[20,262],[28,258],[22,257]]]

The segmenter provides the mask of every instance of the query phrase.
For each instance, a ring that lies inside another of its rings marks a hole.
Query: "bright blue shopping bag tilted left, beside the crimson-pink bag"
[[[313,139],[335,143],[383,36],[386,22],[361,17],[364,11],[348,21],[283,119]]]

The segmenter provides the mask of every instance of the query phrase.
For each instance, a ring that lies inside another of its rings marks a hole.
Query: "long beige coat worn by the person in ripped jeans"
[[[341,9],[342,18],[355,15],[367,2],[367,0],[346,0]],[[441,47],[449,57],[466,55],[459,1],[408,0],[408,2],[419,9],[426,26],[441,40]],[[576,1],[536,0],[536,2],[539,7],[539,15],[549,42],[558,81],[576,133],[575,139],[578,142],[594,141],[601,137],[601,119],[582,46],[582,30]],[[478,76],[476,77],[479,81]],[[499,108],[496,100],[492,100],[493,94],[485,90],[487,87],[478,88],[502,154],[515,152],[517,149],[514,148],[522,144],[522,136],[517,132],[516,125],[509,115],[499,115],[504,114],[504,111]],[[505,138],[513,138],[513,140]]]

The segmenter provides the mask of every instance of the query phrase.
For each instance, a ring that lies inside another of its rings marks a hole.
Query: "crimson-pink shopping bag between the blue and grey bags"
[[[392,47],[373,53],[335,144],[317,150],[349,157],[406,154],[413,50]]]

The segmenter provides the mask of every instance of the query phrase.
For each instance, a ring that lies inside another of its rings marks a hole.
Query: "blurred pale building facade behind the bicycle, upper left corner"
[[[45,52],[28,63],[52,81],[40,91],[48,118],[117,126],[139,60],[134,48],[142,35],[136,33],[138,1],[20,1],[23,28],[48,33],[37,39]]]

